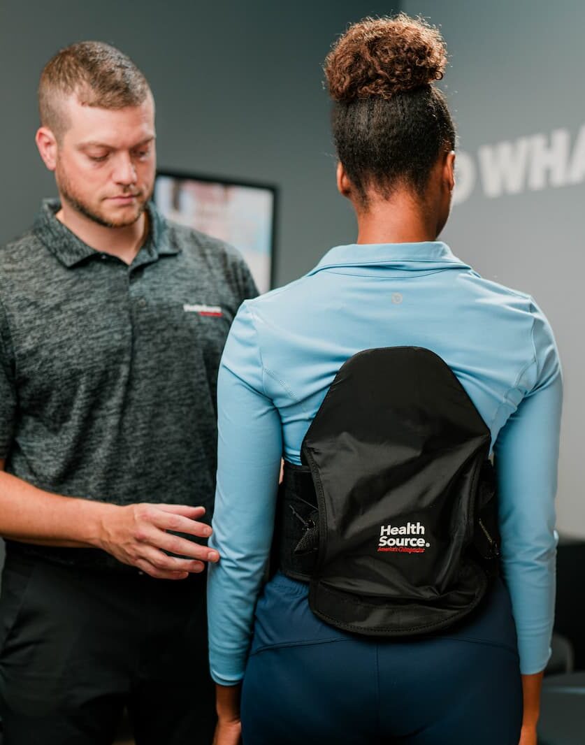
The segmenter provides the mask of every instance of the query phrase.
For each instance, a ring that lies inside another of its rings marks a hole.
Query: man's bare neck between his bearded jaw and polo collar
[[[148,214],[143,212],[132,225],[111,228],[100,225],[62,202],[55,215],[58,221],[75,233],[83,243],[101,253],[117,256],[125,264],[131,264],[148,233]]]

